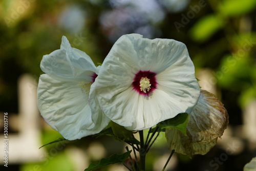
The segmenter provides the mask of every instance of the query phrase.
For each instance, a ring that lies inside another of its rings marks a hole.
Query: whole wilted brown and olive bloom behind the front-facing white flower
[[[169,149],[182,155],[205,155],[223,135],[228,124],[228,114],[214,94],[201,90],[197,105],[189,114],[187,136],[176,129],[166,129]]]

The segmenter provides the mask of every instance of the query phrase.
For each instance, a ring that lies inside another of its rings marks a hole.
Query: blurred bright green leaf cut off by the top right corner
[[[238,16],[252,11],[255,7],[255,0],[225,0],[219,4],[219,12],[224,16]]]

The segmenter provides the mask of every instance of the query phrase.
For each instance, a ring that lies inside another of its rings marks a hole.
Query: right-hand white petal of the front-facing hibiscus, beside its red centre
[[[189,56],[177,57],[172,66],[157,75],[157,82],[159,90],[183,103],[186,109],[181,113],[190,113],[193,110],[200,96],[200,87]]]

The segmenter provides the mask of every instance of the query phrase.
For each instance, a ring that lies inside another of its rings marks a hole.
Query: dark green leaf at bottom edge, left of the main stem
[[[101,159],[98,164],[91,163],[89,165],[89,167],[87,169],[85,169],[84,171],[95,170],[95,169],[104,167],[106,165],[121,163],[130,156],[131,152],[132,151],[125,152],[125,153],[120,154],[120,155],[119,154],[113,154],[110,157]]]

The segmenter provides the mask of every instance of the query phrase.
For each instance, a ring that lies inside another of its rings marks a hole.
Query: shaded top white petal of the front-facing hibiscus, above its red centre
[[[123,63],[126,68],[132,68],[130,71],[133,73],[138,69],[161,73],[174,64],[174,67],[189,65],[187,69],[195,73],[186,46],[174,39],[147,39],[139,34],[123,35],[116,41],[108,56]]]

